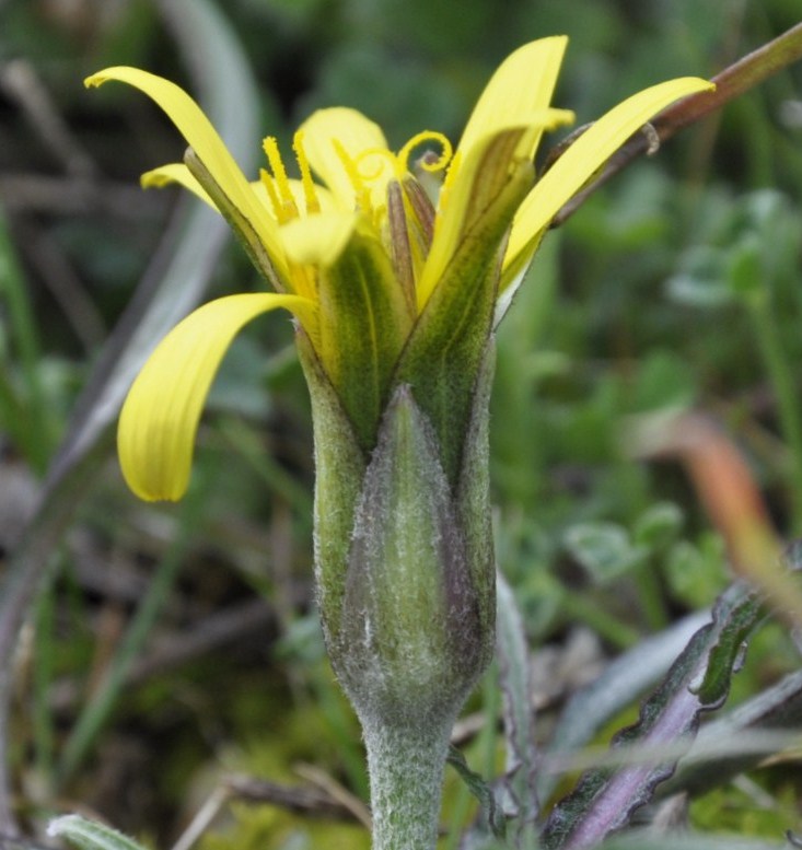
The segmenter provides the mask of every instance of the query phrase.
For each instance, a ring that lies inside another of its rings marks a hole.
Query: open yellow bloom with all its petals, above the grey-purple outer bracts
[[[267,138],[269,170],[254,183],[174,83],[124,67],[86,80],[128,83],[164,109],[189,151],[185,164],[149,172],[143,184],[177,182],[216,207],[275,290],[201,306],[146,363],[118,431],[123,473],[138,496],[184,493],[220,361],[247,322],[277,307],[294,315],[365,455],[392,388],[409,383],[454,479],[462,438],[449,434],[466,423],[493,313],[497,321],[505,310],[549,222],[656,112],[710,88],[684,78],[636,94],[535,182],[541,136],[573,117],[549,106],[566,44],[544,38],[509,56],[453,155],[445,137],[428,131],[393,152],[374,123],[337,107],[316,112],[295,133],[299,178],[288,177],[276,140]],[[444,173],[434,201],[423,189],[426,172]]]

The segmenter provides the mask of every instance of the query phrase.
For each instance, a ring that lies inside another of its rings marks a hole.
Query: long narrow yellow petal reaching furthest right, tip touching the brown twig
[[[636,130],[674,101],[712,88],[712,83],[695,77],[669,80],[628,97],[583,132],[535,184],[521,205],[504,256],[504,276],[509,277],[508,271],[514,275],[528,261],[541,232],[562,205]]]

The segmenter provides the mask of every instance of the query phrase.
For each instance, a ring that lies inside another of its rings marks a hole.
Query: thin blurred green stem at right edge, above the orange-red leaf
[[[802,529],[802,418],[800,418],[795,382],[788,358],[782,350],[770,296],[763,293],[760,298],[751,299],[749,313],[755,323],[760,353],[777,398],[782,435],[791,455],[789,494],[794,534],[800,534]]]

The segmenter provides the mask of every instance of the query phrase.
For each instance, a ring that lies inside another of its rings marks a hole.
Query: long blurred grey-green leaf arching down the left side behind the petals
[[[233,32],[217,9],[201,0],[187,4],[175,23],[184,58],[191,62],[197,56],[206,57],[199,69],[202,100],[229,148],[246,160],[258,106]],[[231,97],[232,91],[236,98]],[[223,222],[211,211],[184,207],[179,212],[75,406],[37,511],[7,564],[0,582],[0,766],[8,765],[10,657],[39,580],[82,494],[103,468],[112,449],[109,428],[131,380],[155,342],[200,300],[225,237]],[[0,828],[13,831],[9,797],[5,771],[0,769]]]

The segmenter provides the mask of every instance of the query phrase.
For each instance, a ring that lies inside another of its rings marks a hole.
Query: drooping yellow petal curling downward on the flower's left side
[[[312,302],[297,295],[230,295],[190,313],[156,346],[128,393],[117,430],[123,475],[140,499],[184,496],[198,421],[220,362],[243,325],[277,307],[303,323],[314,319]]]

